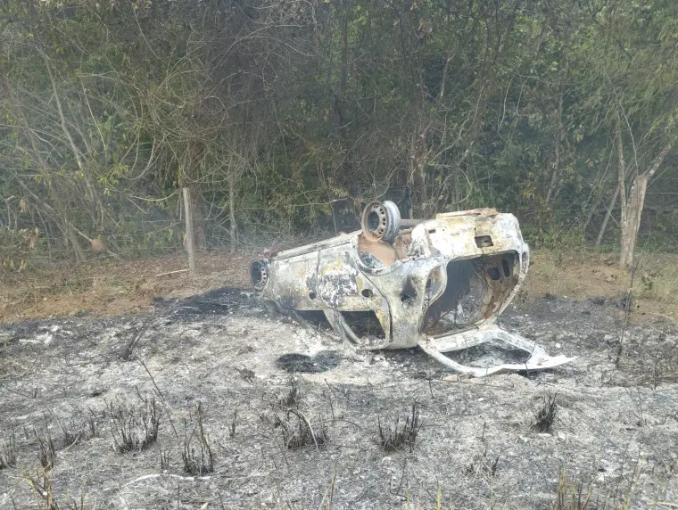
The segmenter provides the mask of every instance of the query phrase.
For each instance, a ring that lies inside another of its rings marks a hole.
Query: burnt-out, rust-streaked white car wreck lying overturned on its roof
[[[359,350],[420,347],[451,369],[482,377],[563,365],[498,325],[525,280],[530,251],[512,214],[476,209],[401,219],[372,202],[361,230],[252,262],[263,303],[302,319],[327,318]],[[518,363],[467,366],[445,356],[481,344],[524,351]]]

